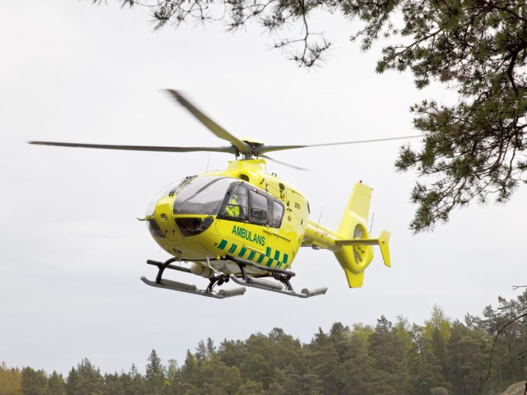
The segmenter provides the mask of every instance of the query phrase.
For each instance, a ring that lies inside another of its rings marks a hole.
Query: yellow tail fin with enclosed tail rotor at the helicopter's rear
[[[364,270],[373,259],[371,246],[378,245],[381,248],[384,264],[390,266],[390,233],[383,230],[379,239],[370,239],[366,228],[371,191],[370,187],[360,182],[355,184],[338,226],[340,239],[336,245],[342,246],[342,250],[335,252],[335,256],[344,269],[350,288],[362,286]]]

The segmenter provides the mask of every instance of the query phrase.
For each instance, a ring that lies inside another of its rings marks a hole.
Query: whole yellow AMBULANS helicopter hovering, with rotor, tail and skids
[[[148,224],[154,240],[172,257],[165,262],[148,260],[148,264],[158,267],[158,272],[154,281],[141,277],[145,284],[219,299],[243,295],[245,287],[309,298],[325,294],[327,287],[294,291],[290,280],[295,273],[290,269],[301,247],[333,252],[346,274],[349,287],[362,286],[364,270],[373,259],[372,246],[379,246],[384,264],[390,266],[390,233],[383,230],[377,239],[372,239],[366,228],[372,191],[370,187],[362,182],[355,184],[335,231],[309,219],[309,204],[302,193],[275,173],[266,171],[266,159],[272,160],[266,155],[268,152],[368,141],[266,145],[254,139],[237,139],[204,115],[180,92],[167,92],[211,132],[231,145],[153,147],[29,142],[60,147],[134,151],[226,152],[236,156],[236,160],[229,162],[227,169],[189,176],[169,185],[154,198],[147,215],[140,220]],[[414,136],[370,141],[408,137]],[[239,156],[242,158],[239,159]],[[198,289],[196,285],[163,278],[166,269],[207,278],[209,285]],[[239,286],[219,289],[229,281]]]

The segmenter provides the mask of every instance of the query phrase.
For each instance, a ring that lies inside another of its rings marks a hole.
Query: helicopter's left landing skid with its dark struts
[[[215,285],[220,286],[224,283],[229,282],[229,276],[226,276],[224,274],[212,276],[211,278],[209,278],[209,286],[207,287],[207,289],[198,289],[198,287],[193,284],[185,284],[180,283],[179,281],[167,280],[166,278],[163,278],[163,272],[165,271],[165,269],[172,269],[177,270],[178,272],[191,273],[190,269],[188,269],[187,267],[172,265],[172,263],[174,263],[175,261],[175,258],[170,258],[165,262],[152,261],[149,259],[148,261],[146,261],[146,263],[148,263],[149,265],[157,266],[158,268],[156,280],[148,280],[148,278],[146,278],[145,276],[141,277],[141,280],[143,281],[143,283],[145,283],[146,285],[150,285],[151,287],[172,289],[172,291],[186,292],[187,294],[208,296],[209,298],[216,299],[224,299],[229,298],[230,296],[238,296],[245,294],[245,287],[220,289],[218,292],[214,291],[213,287],[215,287]]]

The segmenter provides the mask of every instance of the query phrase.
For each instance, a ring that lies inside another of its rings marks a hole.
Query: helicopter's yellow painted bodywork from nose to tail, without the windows
[[[373,259],[372,246],[379,245],[386,265],[390,265],[389,233],[371,239],[366,228],[371,188],[355,184],[338,230],[333,231],[309,220],[307,200],[294,187],[266,172],[263,159],[233,160],[226,170],[200,176],[224,176],[244,180],[251,188],[266,191],[283,202],[285,212],[279,228],[235,221],[216,215],[174,215],[177,195],[166,195],[156,202],[154,213],[145,219],[159,246],[181,261],[220,267],[229,273],[229,258],[266,267],[290,269],[300,246],[330,250],[344,269],[350,287],[360,287],[364,269]],[[178,218],[212,220],[198,235],[183,236],[176,226]],[[361,241],[363,240],[363,241]],[[218,262],[218,263],[215,263]],[[225,263],[224,266],[223,262]]]

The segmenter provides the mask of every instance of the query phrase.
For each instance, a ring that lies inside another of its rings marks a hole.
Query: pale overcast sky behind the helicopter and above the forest
[[[504,206],[457,210],[448,224],[414,236],[415,175],[393,166],[400,141],[272,155],[307,172],[268,164],[329,228],[338,226],[354,182],[373,187],[373,235],[391,232],[393,267],[377,251],[364,287],[349,289],[333,254],[309,249],[293,263],[293,285],[322,283],[325,296],[248,289],[213,300],[141,283],[141,275],[156,274],[145,261],[168,256],[136,217],[166,184],[202,173],[207,163],[222,169],[232,158],[26,141],[226,144],[161,88],[183,89],[231,133],[269,144],[417,134],[409,106],[455,96],[438,85],[417,91],[408,74],[376,75],[379,48],[361,53],[348,40],[358,26],[338,16],[318,19],[334,44],[322,67],[307,71],[270,49],[272,38],[255,25],[237,34],[194,23],[153,32],[145,10],[108,3],[0,3],[0,361],[67,374],[88,357],[113,372],[143,367],[155,348],[163,361],[182,362],[200,339],[219,344],[276,326],[309,342],[319,326],[328,331],[336,321],[375,324],[384,314],[422,324],[434,304],[462,320],[526,283],[527,189]]]

